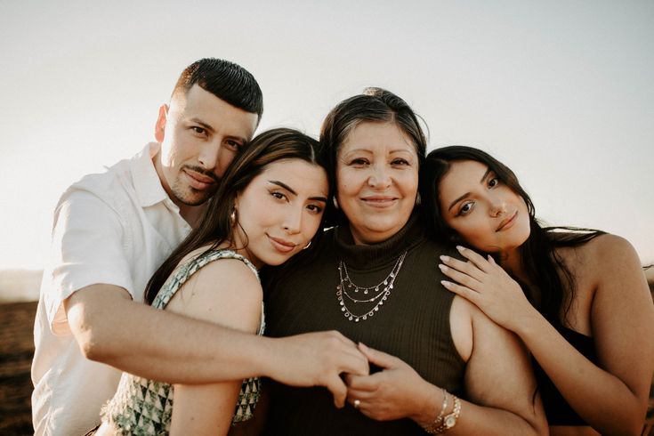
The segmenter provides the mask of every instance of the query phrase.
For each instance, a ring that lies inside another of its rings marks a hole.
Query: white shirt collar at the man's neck
[[[149,142],[130,162],[134,189],[142,207],[152,206],[166,200],[172,203],[161,185],[154,162],[152,162],[152,158],[157,155],[159,149],[161,149],[161,144]]]

